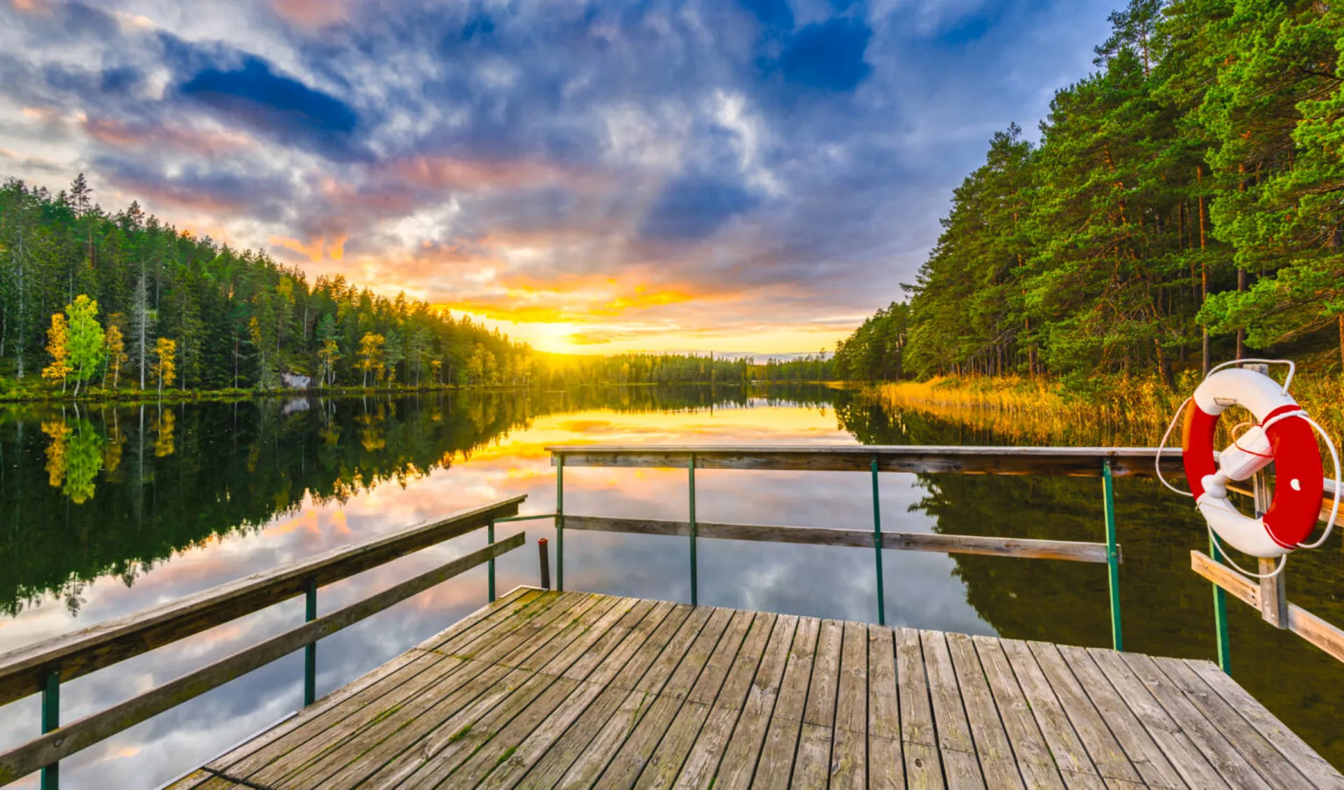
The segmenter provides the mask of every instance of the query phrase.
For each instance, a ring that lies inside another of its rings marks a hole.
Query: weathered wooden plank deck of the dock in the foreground
[[[172,783],[1344,787],[1208,661],[520,587]]]

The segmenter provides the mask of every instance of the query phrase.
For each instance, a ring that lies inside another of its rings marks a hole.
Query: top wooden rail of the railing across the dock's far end
[[[546,447],[566,466],[685,469],[789,469],[868,472],[872,458],[882,472],[960,474],[1064,474],[1101,477],[1110,459],[1116,477],[1153,477],[1156,447],[973,447],[937,445],[552,445]],[[1163,466],[1180,473],[1180,449],[1163,453]]]

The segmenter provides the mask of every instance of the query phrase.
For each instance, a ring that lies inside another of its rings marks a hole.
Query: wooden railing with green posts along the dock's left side
[[[489,566],[489,598],[493,601],[495,558],[523,545],[526,540],[526,533],[520,532],[496,543],[493,524],[496,520],[515,516],[526,498],[519,496],[501,500],[390,535],[352,543],[0,656],[0,705],[40,693],[43,732],[40,738],[0,754],[0,785],[40,770],[42,787],[55,790],[62,759],[300,648],[304,649],[304,705],[310,705],[316,697],[317,641],[323,637],[480,564]],[[489,531],[485,548],[317,617],[320,587],[482,527]],[[298,595],[304,595],[306,603],[302,626],[188,672],[110,708],[60,726],[62,683]]]

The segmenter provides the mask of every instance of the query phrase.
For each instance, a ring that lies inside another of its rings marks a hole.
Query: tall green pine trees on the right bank
[[[1344,361],[1344,9],[1132,0],[1110,21],[1039,145],[1009,126],[956,189],[909,316],[841,344],[864,378]]]

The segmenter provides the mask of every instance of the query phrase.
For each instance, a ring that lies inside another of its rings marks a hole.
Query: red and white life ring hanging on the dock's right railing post
[[[1228,406],[1249,410],[1257,425],[1236,437],[1215,464],[1214,431]],[[1185,410],[1181,461],[1210,528],[1251,556],[1293,551],[1321,515],[1325,474],[1312,423],[1288,390],[1263,374],[1226,368],[1204,379]],[[1275,485],[1269,511],[1259,519],[1242,515],[1227,498],[1227,482],[1247,480],[1270,462]]]

